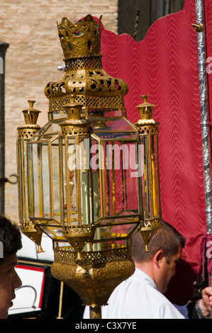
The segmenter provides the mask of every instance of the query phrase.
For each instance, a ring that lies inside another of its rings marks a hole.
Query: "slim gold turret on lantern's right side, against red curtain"
[[[146,251],[150,237],[160,226],[160,174],[158,154],[158,125],[152,119],[154,104],[147,102],[147,96],[141,96],[143,103],[138,107],[140,119],[135,123],[140,135],[140,156],[143,183],[144,218],[140,224],[140,231],[145,241]]]

